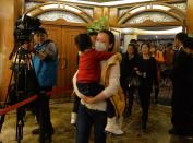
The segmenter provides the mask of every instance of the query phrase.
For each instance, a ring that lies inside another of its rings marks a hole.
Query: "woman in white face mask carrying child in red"
[[[114,45],[114,36],[110,31],[101,31],[98,33],[95,48],[99,51],[112,51]],[[111,112],[111,121],[118,121],[114,115],[120,116],[124,110],[124,100],[118,96],[120,92],[120,55],[114,55],[107,61],[101,62],[100,83],[105,85],[105,90],[94,97],[86,97],[81,94],[76,87],[76,74],[73,78],[73,85],[76,95],[81,98],[76,121],[76,143],[88,143],[92,126],[94,126],[95,143],[106,143],[105,128],[107,123],[107,99],[118,97],[113,103],[116,110]],[[117,94],[117,95],[116,95]],[[113,96],[112,96],[113,95]],[[124,96],[121,96],[124,97]],[[121,100],[122,99],[122,100]],[[112,100],[112,99],[111,99]],[[119,104],[119,106],[118,106]],[[112,127],[113,128],[113,127]],[[122,133],[121,133],[122,134]]]

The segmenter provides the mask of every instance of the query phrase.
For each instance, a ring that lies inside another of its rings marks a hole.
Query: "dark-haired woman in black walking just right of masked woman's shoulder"
[[[122,55],[121,62],[121,86],[125,95],[125,111],[124,117],[129,117],[132,112],[134,93],[136,85],[131,84],[132,78],[136,76],[135,70],[138,64],[138,52],[135,44],[129,44],[126,52]]]

